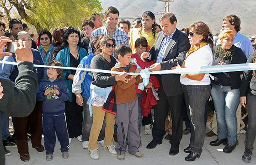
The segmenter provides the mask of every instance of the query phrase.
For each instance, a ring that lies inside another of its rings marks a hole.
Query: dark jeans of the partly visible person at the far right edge
[[[256,137],[256,96],[248,94],[246,100],[249,122],[245,137],[245,149],[249,149],[252,152]]]

